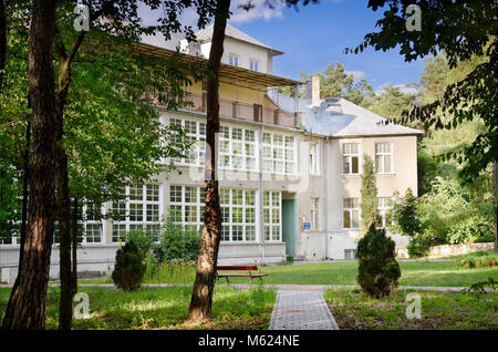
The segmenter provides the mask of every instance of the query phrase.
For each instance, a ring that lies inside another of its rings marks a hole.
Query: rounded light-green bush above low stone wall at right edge
[[[450,229],[448,242],[452,245],[492,242],[494,231],[491,221],[480,216],[471,216]]]

